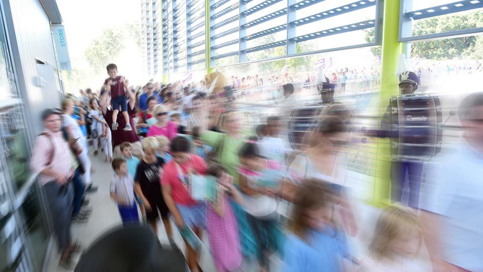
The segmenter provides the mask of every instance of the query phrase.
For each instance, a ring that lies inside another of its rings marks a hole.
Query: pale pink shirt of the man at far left
[[[54,157],[50,168],[65,177],[69,177],[72,170],[71,163],[71,153],[68,144],[62,138],[60,131],[51,132],[49,130],[44,130],[44,132],[49,133],[52,137],[52,143],[54,146]],[[51,152],[52,145],[49,138],[45,135],[39,135],[35,140],[34,150],[32,152],[32,159],[30,160],[30,168],[35,173],[42,172],[47,168],[47,163],[49,161],[49,156]],[[41,186],[47,184],[49,181],[54,181],[55,178],[46,175],[39,175],[38,182]]]

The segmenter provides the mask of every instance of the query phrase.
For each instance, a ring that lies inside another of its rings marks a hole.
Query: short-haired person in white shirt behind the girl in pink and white
[[[291,149],[288,143],[280,138],[282,122],[278,116],[267,118],[268,135],[260,141],[261,155],[285,165],[286,156]]]

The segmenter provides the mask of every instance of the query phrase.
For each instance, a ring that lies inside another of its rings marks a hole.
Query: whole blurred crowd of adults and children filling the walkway
[[[49,201],[62,266],[71,268],[72,254],[81,250],[72,241],[70,224],[85,222],[92,211],[81,208],[82,200],[85,192],[95,190],[90,149],[93,156],[101,149],[112,165],[110,197],[122,222],[144,223],[157,234],[160,218],[176,247],[174,221],[191,271],[201,270],[198,249],[204,231],[219,272],[235,270],[252,256],[261,271],[271,271],[274,254],[283,271],[423,271],[418,259],[423,241],[434,271],[483,269],[481,246],[468,244],[483,237],[481,190],[471,189],[481,187],[476,181],[483,169],[481,93],[461,103],[465,145],[442,171],[445,175],[437,169],[428,172],[429,189],[419,206],[383,209],[365,245],[368,257],[359,259],[353,257],[350,240],[357,239],[361,226],[344,168],[354,132],[346,111],[330,110],[341,106],[333,99],[334,84],[316,82],[327,108],[303,145],[293,148],[284,107],[296,103],[293,95],[299,89],[291,83],[283,85],[286,103],[280,114],[243,131],[236,98],[206,93],[210,88],[203,82],[148,82],[136,90],[118,75],[116,65],[109,64],[107,72],[99,93],[68,94],[61,111],[47,109],[41,116],[45,131],[36,140],[31,166],[40,173]],[[357,75],[341,73],[332,80]],[[372,69],[362,74],[378,77]],[[264,83],[258,76],[233,78],[232,87],[251,84]],[[401,80],[401,91],[407,84]],[[460,170],[471,174],[461,176]],[[423,220],[418,209],[424,210]]]

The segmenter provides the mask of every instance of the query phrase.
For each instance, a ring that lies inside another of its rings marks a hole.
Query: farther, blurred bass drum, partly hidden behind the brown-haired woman
[[[314,126],[325,106],[305,106],[295,109],[288,120],[288,140],[293,150],[300,149],[303,135]]]

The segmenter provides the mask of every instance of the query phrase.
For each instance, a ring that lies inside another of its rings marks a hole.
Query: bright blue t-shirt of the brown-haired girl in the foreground
[[[327,227],[306,235],[307,241],[295,234],[287,237],[282,271],[342,272],[342,259],[350,257],[344,233]]]

